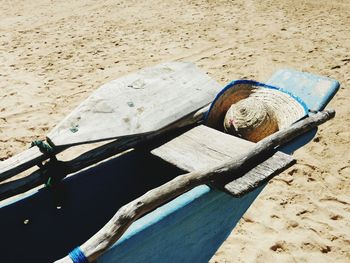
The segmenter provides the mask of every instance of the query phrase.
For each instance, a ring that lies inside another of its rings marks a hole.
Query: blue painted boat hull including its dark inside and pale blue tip
[[[339,88],[329,80],[320,99],[291,81],[293,71],[276,74],[270,84],[299,90],[314,110],[324,108]],[[301,77],[308,81],[299,83],[307,83],[309,90],[323,80]],[[316,129],[282,150],[293,152],[315,133]],[[0,209],[2,261],[59,259],[89,239],[122,205],[182,173],[147,150],[132,151],[65,179],[59,189],[44,188],[6,204]],[[263,187],[241,198],[196,187],[134,222],[98,262],[207,262]]]

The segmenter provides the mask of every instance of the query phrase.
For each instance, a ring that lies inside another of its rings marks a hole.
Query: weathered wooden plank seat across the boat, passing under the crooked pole
[[[152,150],[152,154],[185,170],[205,170],[248,153],[255,143],[200,125]],[[242,177],[216,184],[234,196],[254,189],[294,163],[293,157],[276,152]],[[224,185],[222,185],[224,184]]]

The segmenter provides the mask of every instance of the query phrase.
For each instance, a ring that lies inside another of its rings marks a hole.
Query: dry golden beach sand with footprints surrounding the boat
[[[0,160],[101,84],[169,60],[221,84],[291,67],[335,78],[335,120],[296,152],[211,262],[350,262],[350,2],[0,0]]]

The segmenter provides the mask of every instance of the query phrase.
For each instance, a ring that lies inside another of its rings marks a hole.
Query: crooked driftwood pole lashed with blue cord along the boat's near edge
[[[135,220],[145,213],[196,186],[215,181],[219,178],[234,179],[237,172],[242,169],[254,167],[259,163],[262,156],[271,154],[276,147],[285,144],[334,116],[334,110],[326,110],[314,114],[293,124],[287,129],[261,140],[246,155],[232,159],[223,165],[209,170],[180,175],[168,183],[150,190],[141,197],[121,207],[100,231],[80,246],[81,250],[89,262],[96,260],[123,235]],[[66,256],[56,262],[68,263],[72,262],[72,260]]]

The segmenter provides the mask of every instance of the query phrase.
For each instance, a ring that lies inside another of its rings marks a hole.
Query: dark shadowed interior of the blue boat
[[[2,262],[52,262],[67,255],[119,207],[181,173],[149,153],[130,152],[67,178],[59,189],[44,188],[2,207]]]

